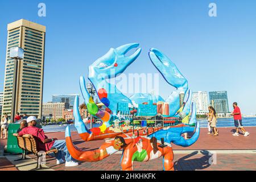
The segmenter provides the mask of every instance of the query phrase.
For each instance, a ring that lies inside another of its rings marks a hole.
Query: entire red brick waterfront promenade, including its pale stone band
[[[256,127],[246,129],[250,132],[249,137],[243,135],[233,137],[233,128],[220,128],[218,137],[212,137],[207,134],[207,129],[201,129],[199,140],[192,146],[184,148],[172,144],[175,170],[256,170]],[[64,139],[64,133],[48,133],[47,136]],[[94,150],[104,143],[104,140],[84,142],[76,132],[72,132],[72,139],[73,143],[82,150]],[[0,144],[5,145],[6,140],[1,140]],[[19,170],[32,169],[36,166],[36,158],[34,155],[29,156],[31,159],[24,163],[13,162],[20,158],[20,155],[5,155],[5,158],[0,158],[0,170],[15,169],[14,165]],[[66,168],[64,164],[56,165],[54,158],[47,158],[46,166],[49,167],[48,170],[121,170],[120,159],[121,154],[118,152],[100,162],[81,162],[77,167]],[[5,166],[1,162],[3,160]],[[209,163],[212,160],[213,162]],[[134,162],[134,170],[163,170],[162,158],[150,162]]]

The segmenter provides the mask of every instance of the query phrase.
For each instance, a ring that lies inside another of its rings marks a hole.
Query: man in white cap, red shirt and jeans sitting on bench
[[[64,163],[63,154],[65,153],[65,166],[71,167],[71,166],[77,166],[78,163],[75,162],[72,158],[72,156],[69,154],[66,141],[65,140],[57,140],[56,138],[47,138],[46,135],[44,135],[43,129],[39,129],[36,126],[36,117],[30,116],[27,118],[27,127],[22,129],[19,132],[19,137],[22,137],[22,135],[30,134],[33,137],[37,138],[36,140],[36,146],[39,151],[49,151],[53,148],[56,148],[58,150],[56,154],[56,164]]]

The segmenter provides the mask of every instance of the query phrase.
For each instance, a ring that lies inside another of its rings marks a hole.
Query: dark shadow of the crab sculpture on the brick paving
[[[210,167],[210,158],[212,158],[212,155],[209,155],[209,152],[205,150],[200,151],[200,153],[203,154],[201,158],[189,159],[191,156],[198,154],[198,151],[180,158],[174,163],[174,169],[177,171],[195,171],[196,169],[205,169]]]

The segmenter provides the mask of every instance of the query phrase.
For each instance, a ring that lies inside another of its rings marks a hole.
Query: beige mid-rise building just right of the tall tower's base
[[[63,111],[69,108],[67,102],[47,102],[43,104],[43,117],[52,117],[52,119],[63,118]]]

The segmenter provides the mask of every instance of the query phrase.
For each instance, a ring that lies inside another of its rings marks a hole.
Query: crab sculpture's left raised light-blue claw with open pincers
[[[138,48],[130,56],[126,56],[125,54],[138,46],[138,43],[131,43],[117,48],[110,48],[106,55],[100,57],[89,66],[88,78],[96,89],[96,93],[101,102],[108,107],[113,114],[117,113],[118,102],[131,103],[131,100],[123,95],[122,92],[117,89],[117,86],[106,80],[108,78],[114,78],[125,71],[125,69],[137,59],[141,53],[141,48]],[[99,92],[104,93],[103,98],[99,95]]]

